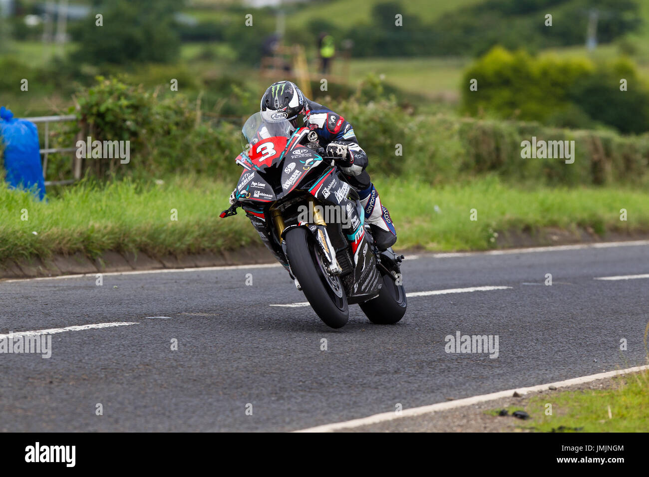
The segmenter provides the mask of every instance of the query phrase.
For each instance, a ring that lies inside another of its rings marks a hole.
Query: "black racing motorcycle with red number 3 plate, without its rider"
[[[354,303],[372,323],[397,323],[406,313],[404,257],[375,247],[358,193],[317,134],[273,112],[252,115],[242,132],[247,145],[236,162],[244,170],[220,216],[245,211],[328,326],[344,326]]]

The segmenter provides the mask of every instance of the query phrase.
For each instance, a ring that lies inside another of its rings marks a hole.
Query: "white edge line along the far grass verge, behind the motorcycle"
[[[424,253],[406,255],[406,259],[417,260],[419,258],[454,258],[469,257],[476,255],[508,255],[518,253],[535,253],[535,252],[558,252],[564,250],[582,250],[582,249],[606,249],[609,247],[633,247],[638,245],[649,245],[649,240],[630,240],[621,242],[599,242],[599,243],[578,243],[576,245],[552,245],[550,247],[529,247],[527,249],[506,249],[490,250],[482,252],[441,252],[441,253]],[[218,270],[243,270],[255,268],[281,267],[277,262],[258,263],[257,265],[219,265],[217,267],[188,267],[188,268],[164,268],[156,270],[132,270],[126,272],[105,272],[104,276],[113,275],[148,275],[149,273],[178,273],[178,272],[197,272],[197,271],[218,271]],[[9,282],[25,282],[29,280],[62,280],[64,278],[81,278],[83,276],[95,276],[101,272],[81,273],[77,275],[58,275],[58,276],[40,276],[38,278],[12,278],[10,280],[0,279],[0,284]]]

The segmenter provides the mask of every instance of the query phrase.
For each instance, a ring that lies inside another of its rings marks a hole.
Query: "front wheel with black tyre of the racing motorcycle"
[[[321,255],[320,245],[304,227],[291,228],[286,232],[285,239],[291,271],[300,282],[313,311],[332,328],[345,326],[349,319],[347,295],[340,278],[330,276],[323,270],[325,259]]]

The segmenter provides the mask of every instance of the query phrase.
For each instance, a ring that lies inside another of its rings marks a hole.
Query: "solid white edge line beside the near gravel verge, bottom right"
[[[356,428],[360,426],[367,426],[369,424],[378,424],[378,422],[394,421],[395,419],[400,419],[402,417],[419,416],[439,411],[446,411],[449,409],[462,408],[464,406],[471,406],[472,404],[478,404],[480,402],[491,401],[504,397],[512,397],[514,391],[517,391],[520,395],[525,395],[528,393],[535,393],[537,391],[546,391],[547,389],[550,389],[550,386],[557,388],[567,387],[575,384],[583,384],[591,381],[596,381],[598,379],[611,378],[612,376],[618,376],[620,374],[636,373],[637,371],[643,371],[646,369],[649,369],[649,365],[635,366],[619,371],[607,371],[606,373],[591,374],[590,376],[581,376],[580,378],[572,378],[565,381],[557,381],[554,383],[539,384],[536,386],[522,387],[518,389],[507,389],[506,391],[498,391],[496,393],[473,396],[453,401],[438,402],[437,404],[430,404],[429,406],[406,409],[401,411],[399,414],[397,414],[395,411],[389,411],[380,414],[374,414],[368,417],[363,417],[361,419],[353,419],[352,421],[334,422],[333,424],[324,424],[323,426],[315,426],[312,428],[301,429],[293,432],[333,432],[340,429]]]

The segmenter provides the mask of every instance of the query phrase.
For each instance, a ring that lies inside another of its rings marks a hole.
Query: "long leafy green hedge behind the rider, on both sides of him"
[[[558,129],[525,121],[416,115],[394,97],[364,98],[359,91],[349,99],[325,98],[323,103],[352,123],[373,177],[416,178],[433,185],[485,174],[523,184],[649,183],[649,134],[624,137],[610,130]],[[60,145],[69,147],[78,133],[93,140],[132,141],[130,164],[91,159],[88,173],[201,173],[234,182],[241,172],[234,164],[243,146],[241,124],[201,120],[196,104],[181,93],[161,97],[141,86],[100,78],[77,95],[77,103],[79,125],[56,136]],[[520,143],[532,136],[574,140],[574,164],[521,158]],[[51,167],[64,170],[69,162],[69,157],[51,158]]]

